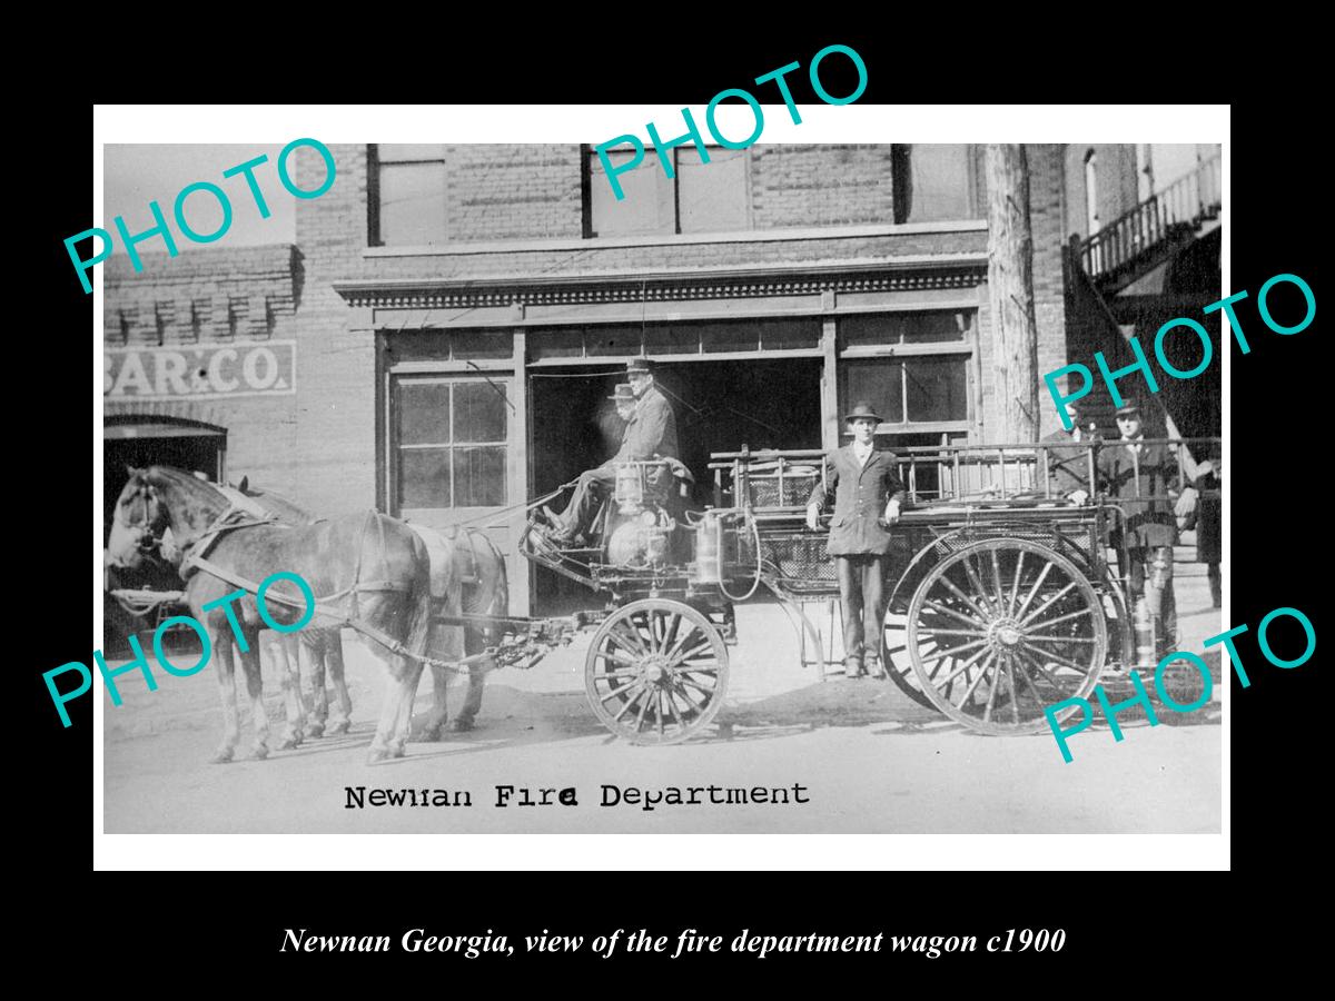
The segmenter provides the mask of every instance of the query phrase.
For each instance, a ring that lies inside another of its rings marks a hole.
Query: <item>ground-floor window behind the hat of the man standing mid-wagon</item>
[[[840,406],[868,400],[882,432],[967,431],[972,312],[898,312],[840,320]]]

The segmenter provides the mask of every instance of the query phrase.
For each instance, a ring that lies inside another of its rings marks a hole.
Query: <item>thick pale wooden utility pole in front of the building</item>
[[[1033,315],[1029,164],[1016,143],[988,144],[988,296],[999,442],[1039,440],[1039,327]]]

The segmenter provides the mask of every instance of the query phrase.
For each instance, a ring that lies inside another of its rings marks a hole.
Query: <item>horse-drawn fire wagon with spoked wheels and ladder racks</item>
[[[1191,482],[1192,451],[1215,440],[1165,442],[1179,483]],[[1132,505],[1101,492],[1077,503],[1049,478],[1056,456],[1071,464],[1076,450],[1085,482],[1099,483],[1099,450],[1111,447],[898,454],[908,498],[893,530],[881,659],[905,694],[975,730],[1032,733],[1048,726],[1047,707],[1089,697],[1100,678],[1116,686],[1131,667],[1153,670],[1123,533]],[[519,542],[527,559],[607,595],[585,687],[603,725],[635,743],[682,741],[714,718],[737,642],[734,606],[761,587],[789,614],[802,662],[821,677],[837,663],[833,559],[825,533],[805,525],[826,475],[822,452],[744,447],[710,458],[710,506],[689,503],[668,463],[625,463],[587,546],[551,546],[537,514]],[[1143,495],[1139,470],[1133,483],[1135,502],[1176,499]],[[1200,685],[1195,671],[1171,671],[1167,683],[1179,694]]]

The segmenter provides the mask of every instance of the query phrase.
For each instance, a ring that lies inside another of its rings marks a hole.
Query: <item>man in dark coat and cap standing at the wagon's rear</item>
[[[1099,452],[1099,479],[1127,519],[1121,529],[1113,529],[1111,542],[1120,553],[1125,539],[1131,595],[1132,599],[1143,595],[1148,602],[1163,657],[1177,643],[1177,601],[1172,590],[1177,519],[1169,499],[1169,491],[1181,486],[1177,459],[1168,446],[1144,444],[1135,399],[1125,399],[1117,408],[1117,430],[1121,440],[1105,444]]]

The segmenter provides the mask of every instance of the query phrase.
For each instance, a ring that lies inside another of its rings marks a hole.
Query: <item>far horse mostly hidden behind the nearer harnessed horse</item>
[[[248,476],[242,478],[236,488],[247,498],[254,498],[264,510],[286,523],[307,525],[315,521],[314,514],[295,502],[272,491],[254,487]],[[411,522],[407,525],[421,537],[427,549],[427,555],[431,558],[431,597],[445,614],[455,615],[463,611],[470,615],[499,618],[510,614],[510,583],[506,575],[505,557],[486,533],[462,527],[450,527],[442,531]],[[302,631],[303,650],[307,637],[312,635],[312,633],[310,629]],[[339,637],[336,631],[330,630],[330,633],[334,635],[326,642],[331,650],[336,646],[339,651],[338,674],[332,677],[335,679],[335,691],[340,691],[340,698],[347,703],[343,717],[346,719],[346,713],[351,711],[351,702],[348,701],[347,687],[343,685],[342,678],[342,645],[338,643]],[[461,633],[462,645],[459,642]],[[458,626],[433,623],[427,649],[435,659],[458,661],[461,657],[481,654],[489,645],[494,646],[501,638],[499,633],[499,627],[495,626],[482,627],[470,625],[463,626],[461,630]],[[284,639],[287,638],[284,637]],[[291,653],[288,657],[291,657]],[[324,699],[323,665],[318,659],[315,663],[314,671],[308,674],[318,699],[314,714],[316,721],[319,721]],[[487,662],[470,665],[469,690],[463,699],[463,709],[454,718],[453,723],[455,731],[463,733],[474,727],[477,714],[482,709],[482,690],[486,675],[494,666],[494,663]],[[438,665],[433,665],[431,667],[433,711],[422,729],[421,735],[425,741],[437,741],[441,738],[441,730],[447,718],[446,686],[450,670],[446,667]],[[283,677],[287,675],[284,674]],[[307,726],[307,735],[319,735],[318,733],[311,733],[312,726],[315,723]],[[331,723],[328,731],[340,733],[334,726]],[[343,729],[346,729],[346,722]]]

